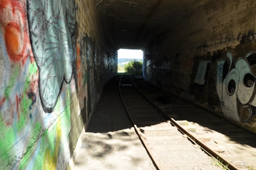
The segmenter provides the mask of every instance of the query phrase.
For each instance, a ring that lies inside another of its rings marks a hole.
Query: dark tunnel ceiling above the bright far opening
[[[101,27],[116,48],[141,49],[208,0],[96,0]]]

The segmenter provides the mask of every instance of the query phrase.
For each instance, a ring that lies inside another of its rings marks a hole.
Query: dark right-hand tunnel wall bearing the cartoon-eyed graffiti
[[[147,81],[256,132],[256,2],[206,1],[143,47]]]

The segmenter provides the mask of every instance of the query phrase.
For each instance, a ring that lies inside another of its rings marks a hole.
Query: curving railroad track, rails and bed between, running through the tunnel
[[[132,82],[130,76],[122,76],[119,90],[129,116],[134,123],[144,147],[152,158],[157,169],[216,169],[202,154],[202,150],[223,163],[225,168],[239,169],[221,152],[211,149],[189,132],[183,124],[186,121],[175,121],[173,114],[166,112],[166,107],[159,107],[138,90],[138,82]],[[171,116],[170,116],[171,115]]]

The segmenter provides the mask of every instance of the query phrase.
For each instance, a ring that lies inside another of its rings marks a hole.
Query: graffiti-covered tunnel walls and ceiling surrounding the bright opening
[[[256,132],[255,11],[253,0],[0,1],[1,169],[70,169],[121,48],[143,51],[146,81]]]

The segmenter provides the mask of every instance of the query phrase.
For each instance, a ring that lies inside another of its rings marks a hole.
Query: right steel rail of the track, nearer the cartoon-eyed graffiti
[[[130,75],[130,79],[132,81],[131,75]],[[201,140],[199,140],[198,138],[194,137],[192,134],[190,134],[189,131],[187,131],[186,129],[184,129],[182,126],[180,126],[173,118],[170,118],[167,113],[165,113],[163,110],[161,110],[158,106],[156,106],[155,103],[153,103],[149,98],[146,97],[146,95],[143,94],[143,92],[140,91],[140,89],[137,88],[137,86],[134,84],[134,81],[132,81],[132,84],[135,86],[135,88],[138,90],[138,92],[140,92],[141,95],[143,95],[143,97],[149,101],[150,104],[152,104],[153,107],[155,107],[156,110],[158,110],[159,113],[161,113],[163,116],[165,116],[166,119],[170,120],[171,124],[176,126],[178,128],[179,131],[181,131],[183,134],[186,134],[187,137],[189,137],[190,140],[192,140],[193,142],[195,142],[196,144],[198,144],[201,149],[203,149],[206,153],[208,153],[209,155],[211,155],[212,157],[215,157],[215,159],[218,160],[218,162],[220,162],[223,166],[226,166],[227,168],[229,168],[230,170],[239,170],[238,167],[236,167],[235,165],[233,165],[231,162],[229,162],[227,159],[225,159],[223,156],[221,156],[220,154],[218,154],[217,152],[214,152],[214,150],[210,149],[208,146],[206,146],[205,144],[203,144],[203,142]]]

